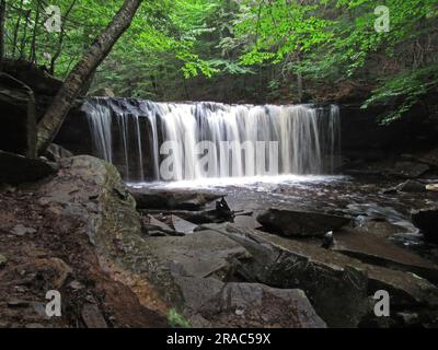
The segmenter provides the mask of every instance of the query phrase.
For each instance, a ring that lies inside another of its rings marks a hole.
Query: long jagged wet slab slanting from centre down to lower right
[[[388,291],[392,306],[403,312],[415,310],[427,316],[438,308],[438,289],[416,275],[364,264],[309,240],[285,238],[232,224],[208,228],[251,253],[252,258],[241,261],[237,273],[247,281],[302,289],[331,327],[357,327],[368,315],[370,298],[378,290]]]

